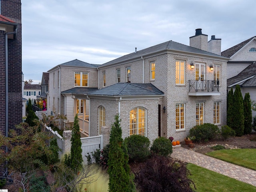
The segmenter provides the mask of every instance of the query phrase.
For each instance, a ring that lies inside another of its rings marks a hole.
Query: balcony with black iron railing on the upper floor
[[[188,80],[190,96],[220,95],[219,81],[214,80]]]

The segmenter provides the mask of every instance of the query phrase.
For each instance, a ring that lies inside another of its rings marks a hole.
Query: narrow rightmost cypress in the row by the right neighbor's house
[[[250,94],[246,93],[244,96],[244,134],[252,132],[252,105]]]

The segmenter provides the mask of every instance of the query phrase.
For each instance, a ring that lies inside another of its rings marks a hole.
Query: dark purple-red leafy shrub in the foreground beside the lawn
[[[194,183],[187,178],[186,165],[168,157],[154,156],[142,164],[135,181],[140,192],[192,192]]]

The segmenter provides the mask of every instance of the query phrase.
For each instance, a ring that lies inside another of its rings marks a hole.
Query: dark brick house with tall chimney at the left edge
[[[0,1],[0,132],[22,122],[22,34],[20,0]],[[8,148],[5,148],[7,151]],[[0,166],[0,172],[3,170]]]

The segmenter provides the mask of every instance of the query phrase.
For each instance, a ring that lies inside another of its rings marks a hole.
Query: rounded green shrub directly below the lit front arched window
[[[141,135],[131,135],[124,139],[129,161],[142,162],[150,156],[150,140]]]

